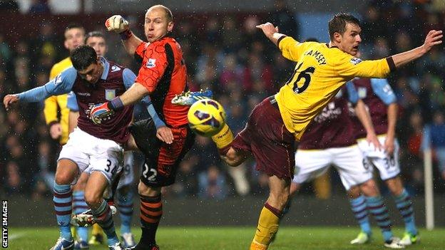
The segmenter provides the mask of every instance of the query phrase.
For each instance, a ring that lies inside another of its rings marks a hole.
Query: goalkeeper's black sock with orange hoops
[[[140,224],[142,224],[142,235],[139,244],[153,245],[156,243],[155,236],[158,230],[160,217],[162,217],[162,200],[160,194],[155,197],[140,195]]]

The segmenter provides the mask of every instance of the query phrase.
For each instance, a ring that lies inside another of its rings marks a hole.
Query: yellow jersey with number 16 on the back
[[[297,62],[292,77],[275,95],[285,126],[297,140],[344,83],[356,76],[386,78],[389,63],[394,63],[392,58],[362,61],[327,43],[299,43],[290,36],[280,38],[278,47],[285,58]]]

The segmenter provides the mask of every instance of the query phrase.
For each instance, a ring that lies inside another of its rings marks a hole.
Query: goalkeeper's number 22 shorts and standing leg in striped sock
[[[189,127],[171,130],[174,140],[167,145],[156,137],[156,128],[150,119],[141,120],[130,127],[135,145],[145,156],[138,185],[142,235],[135,246],[136,250],[158,249],[155,235],[162,216],[160,189],[175,182],[180,161],[195,141]]]

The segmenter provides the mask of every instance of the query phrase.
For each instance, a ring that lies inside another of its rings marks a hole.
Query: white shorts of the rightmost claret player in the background
[[[380,144],[384,145],[387,139],[386,135],[379,135]],[[380,172],[380,178],[387,180],[396,177],[400,173],[399,164],[399,141],[394,139],[394,152],[392,155],[388,155],[384,150],[376,150],[374,145],[369,145],[366,139],[357,140],[360,150],[362,150],[363,156],[366,157],[367,163],[372,164]]]

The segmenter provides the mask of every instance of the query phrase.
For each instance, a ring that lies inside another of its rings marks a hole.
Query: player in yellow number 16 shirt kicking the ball
[[[362,29],[349,14],[336,14],[329,21],[329,43],[300,43],[278,33],[270,23],[257,28],[280,48],[285,58],[297,62],[295,71],[276,95],[255,106],[245,129],[235,139],[227,125],[212,137],[228,165],[235,167],[253,155],[257,170],[269,175],[270,194],[260,213],[251,250],[267,249],[277,232],[295,167],[294,142],[339,88],[356,76],[386,78],[390,71],[442,42],[442,31],[430,31],[424,44],[411,51],[362,61],[354,57],[362,42]]]

